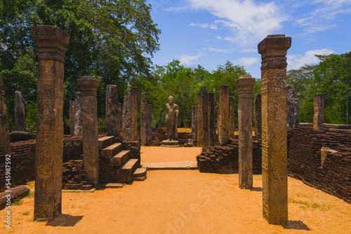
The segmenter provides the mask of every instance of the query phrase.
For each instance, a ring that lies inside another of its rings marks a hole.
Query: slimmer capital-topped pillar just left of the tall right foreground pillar
[[[235,85],[239,92],[239,188],[251,189],[252,179],[252,89],[255,78],[240,76]]]

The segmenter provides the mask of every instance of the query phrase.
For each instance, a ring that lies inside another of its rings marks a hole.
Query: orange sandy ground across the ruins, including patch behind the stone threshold
[[[143,147],[142,163],[195,160],[199,148]],[[12,227],[0,233],[351,233],[351,205],[289,177],[289,223],[262,217],[262,177],[253,189],[238,174],[148,171],[145,181],[94,193],[62,193],[62,215],[33,223],[34,198],[13,205]],[[31,183],[33,185],[33,182]]]

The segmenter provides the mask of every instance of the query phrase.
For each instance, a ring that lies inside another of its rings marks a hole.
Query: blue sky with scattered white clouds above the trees
[[[351,50],[351,0],[147,0],[161,29],[152,62],[173,59],[213,71],[227,60],[260,78],[257,45],[268,34],[292,37],[288,70],[317,63],[314,54]]]

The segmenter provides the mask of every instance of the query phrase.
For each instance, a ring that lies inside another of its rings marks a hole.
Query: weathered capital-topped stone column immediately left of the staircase
[[[97,186],[99,177],[98,100],[100,81],[92,76],[78,80],[81,88],[81,122],[83,125],[84,172],[89,184]]]

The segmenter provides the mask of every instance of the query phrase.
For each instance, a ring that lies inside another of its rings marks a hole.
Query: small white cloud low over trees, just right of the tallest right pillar
[[[333,50],[324,48],[320,50],[308,50],[305,55],[288,55],[288,69],[298,69],[305,64],[315,64],[319,59],[314,55],[329,55],[334,53]]]

